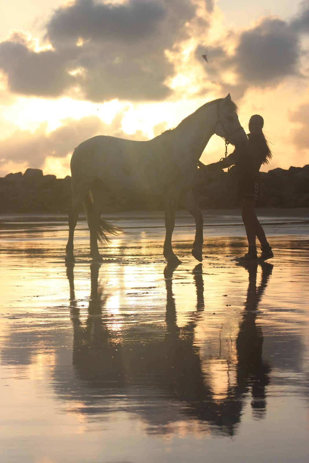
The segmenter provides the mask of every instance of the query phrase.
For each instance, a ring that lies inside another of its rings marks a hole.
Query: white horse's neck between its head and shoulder
[[[177,127],[177,140],[183,156],[198,161],[210,137],[214,134],[215,106],[200,109]],[[181,153],[179,153],[181,155]]]

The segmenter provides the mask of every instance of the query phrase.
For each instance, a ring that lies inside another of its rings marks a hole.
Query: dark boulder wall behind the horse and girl
[[[200,172],[194,188],[195,198],[201,208],[235,207],[234,168],[227,174]],[[228,194],[227,194],[228,191]],[[27,169],[0,178],[1,212],[68,212],[71,203],[71,177],[57,179],[55,175],[43,175],[40,169]],[[290,169],[272,169],[261,172],[260,206],[309,207],[309,164]],[[132,209],[163,209],[160,198],[135,198],[105,196],[107,212]]]

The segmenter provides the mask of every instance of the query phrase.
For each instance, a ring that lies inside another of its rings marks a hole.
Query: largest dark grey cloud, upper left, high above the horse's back
[[[214,2],[206,6],[210,13]],[[0,44],[0,69],[18,94],[164,100],[172,94],[166,80],[175,73],[165,51],[189,38],[198,7],[197,0],[76,0],[47,23],[51,50],[34,50],[15,33]],[[208,19],[199,22],[205,30]]]

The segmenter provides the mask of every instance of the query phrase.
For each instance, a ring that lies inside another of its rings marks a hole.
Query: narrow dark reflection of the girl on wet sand
[[[259,301],[265,291],[268,280],[271,276],[273,266],[263,263],[262,278],[257,288],[258,264],[245,264],[249,272],[249,286],[245,304],[243,319],[240,323],[240,331],[236,340],[238,354],[237,363],[237,392],[246,394],[249,387],[252,393],[252,408],[256,416],[263,416],[265,401],[265,386],[269,383],[270,365],[263,361],[263,332],[260,326],[256,325]]]

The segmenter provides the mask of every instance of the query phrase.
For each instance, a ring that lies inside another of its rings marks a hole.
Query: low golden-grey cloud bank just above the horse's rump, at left
[[[111,124],[106,124],[97,116],[79,120],[65,119],[63,125],[54,131],[47,131],[47,123],[39,125],[34,132],[18,129],[9,138],[0,140],[0,166],[8,163],[27,163],[32,168],[42,168],[47,157],[64,158],[82,141],[95,135],[148,140],[141,131],[132,135],[121,129],[124,111],[117,113]]]

